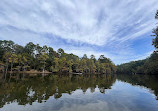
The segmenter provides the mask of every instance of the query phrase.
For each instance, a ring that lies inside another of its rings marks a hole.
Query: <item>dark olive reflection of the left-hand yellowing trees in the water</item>
[[[18,79],[17,79],[18,78]],[[21,78],[21,79],[20,79]],[[91,93],[98,87],[101,93],[110,89],[116,78],[114,75],[48,75],[45,77],[25,77],[17,74],[8,82],[0,80],[0,107],[17,102],[19,105],[42,103],[63,93],[72,94],[76,89]]]

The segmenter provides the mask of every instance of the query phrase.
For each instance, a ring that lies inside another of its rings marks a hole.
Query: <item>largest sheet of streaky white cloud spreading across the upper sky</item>
[[[119,39],[118,32],[131,24],[139,23],[142,26],[146,23],[152,29],[154,22],[149,22],[151,19],[147,18],[154,19],[152,14],[158,5],[156,1],[27,0],[21,3],[20,0],[2,0],[1,13],[5,16],[1,16],[0,23],[35,32],[49,32],[65,39],[105,45],[109,40]],[[133,25],[131,30],[136,28]],[[142,29],[144,27],[139,30]],[[139,33],[139,30],[135,33]],[[139,35],[141,33],[135,37]]]

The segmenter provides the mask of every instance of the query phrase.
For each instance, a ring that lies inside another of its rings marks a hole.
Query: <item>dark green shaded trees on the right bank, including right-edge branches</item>
[[[158,19],[158,11],[155,15]],[[117,66],[117,73],[124,74],[157,74],[158,75],[158,26],[153,30],[155,51],[147,59],[132,61]]]

